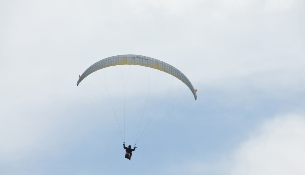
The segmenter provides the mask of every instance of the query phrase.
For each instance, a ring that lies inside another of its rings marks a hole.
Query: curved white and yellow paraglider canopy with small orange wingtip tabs
[[[105,59],[102,59],[96,63],[94,63],[92,66],[90,66],[78,79],[78,84],[88,75],[90,75],[92,72],[95,72],[99,69],[103,69],[109,66],[117,66],[117,65],[139,65],[139,66],[145,66],[150,67],[153,69],[158,69],[160,71],[166,72],[172,76],[177,77],[179,80],[181,80],[186,86],[188,86],[189,89],[191,89],[195,100],[197,99],[196,89],[194,89],[192,83],[188,80],[188,78],[178,69],[176,69],[174,66],[171,66],[167,64],[166,62],[153,59],[147,56],[142,55],[118,55],[118,56],[111,56]]]

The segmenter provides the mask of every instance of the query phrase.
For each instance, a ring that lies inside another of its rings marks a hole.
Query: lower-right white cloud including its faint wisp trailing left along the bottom
[[[304,116],[278,116],[265,121],[250,135],[233,153],[222,153],[209,161],[187,158],[184,163],[168,167],[166,174],[305,174]]]

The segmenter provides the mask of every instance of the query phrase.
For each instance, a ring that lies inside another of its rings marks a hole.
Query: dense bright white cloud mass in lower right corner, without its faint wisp
[[[233,175],[305,174],[305,118],[289,114],[265,122],[235,152]]]

